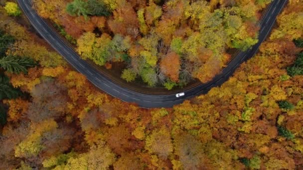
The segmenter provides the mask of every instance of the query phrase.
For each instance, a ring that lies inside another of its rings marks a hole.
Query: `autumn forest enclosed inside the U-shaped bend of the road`
[[[210,81],[258,42],[271,0],[34,0],[83,59],[148,86]]]

